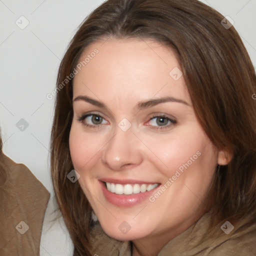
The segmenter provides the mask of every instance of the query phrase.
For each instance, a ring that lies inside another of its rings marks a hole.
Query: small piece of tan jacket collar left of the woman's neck
[[[96,222],[91,232],[92,255],[97,256],[130,256],[129,241],[118,241],[108,236]]]

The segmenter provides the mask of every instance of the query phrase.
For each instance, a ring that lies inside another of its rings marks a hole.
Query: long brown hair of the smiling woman
[[[148,38],[174,50],[201,126],[217,148],[233,156],[213,178],[212,220],[246,217],[247,226],[256,220],[256,105],[251,97],[256,77],[238,33],[233,26],[226,29],[223,18],[197,0],[107,0],[76,31],[56,85],[72,72],[84,49],[102,38]],[[72,115],[70,79],[56,93],[51,175],[74,254],[90,255],[91,206],[79,183],[66,178],[73,169],[68,146]]]

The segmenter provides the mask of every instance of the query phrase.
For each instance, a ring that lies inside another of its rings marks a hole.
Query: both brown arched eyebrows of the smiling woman
[[[105,108],[105,109],[107,108],[106,105],[103,102],[95,100],[95,99],[93,99],[89,96],[79,95],[79,96],[77,96],[73,99],[73,102],[78,101],[78,100],[83,100],[85,102],[88,102],[92,105],[95,105],[95,106],[98,106],[98,107],[101,107],[101,108]],[[141,110],[143,108],[152,107],[152,106],[155,106],[157,104],[165,103],[165,102],[178,102],[178,103],[182,103],[182,104],[185,104],[185,105],[189,106],[189,104],[185,100],[182,100],[182,99],[178,99],[178,98],[174,98],[174,97],[161,97],[161,98],[154,98],[154,99],[149,99],[149,100],[145,100],[145,101],[139,101],[136,104],[136,109]]]

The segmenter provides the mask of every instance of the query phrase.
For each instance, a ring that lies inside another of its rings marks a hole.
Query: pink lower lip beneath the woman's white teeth
[[[124,194],[112,193],[107,190],[104,182],[99,181],[99,183],[102,187],[102,191],[106,200],[119,207],[130,207],[130,206],[136,205],[144,201],[145,199],[147,199],[159,187],[158,185],[152,190],[145,191],[143,193],[124,195]]]

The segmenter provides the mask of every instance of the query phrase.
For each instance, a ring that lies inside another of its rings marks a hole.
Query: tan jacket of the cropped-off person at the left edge
[[[49,192],[25,165],[1,160],[8,176],[0,187],[0,256],[39,255]]]

